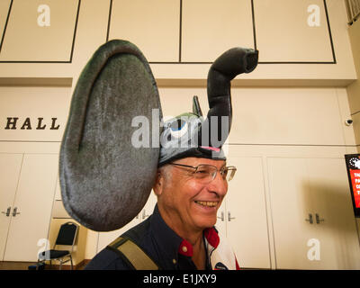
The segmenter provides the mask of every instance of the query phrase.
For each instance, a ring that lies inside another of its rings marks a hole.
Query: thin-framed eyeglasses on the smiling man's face
[[[199,180],[202,180],[204,182],[211,182],[213,179],[215,179],[216,174],[218,171],[220,171],[220,175],[222,176],[222,179],[230,181],[237,171],[237,168],[235,166],[223,166],[218,170],[218,167],[208,165],[208,164],[200,164],[199,166],[188,166],[183,164],[176,164],[176,163],[169,163],[171,165],[175,166],[184,166],[193,168],[193,176]]]

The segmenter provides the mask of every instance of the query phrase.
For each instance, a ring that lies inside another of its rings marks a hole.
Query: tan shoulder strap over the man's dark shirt
[[[130,238],[116,238],[108,247],[120,252],[136,270],[158,270],[155,262]]]

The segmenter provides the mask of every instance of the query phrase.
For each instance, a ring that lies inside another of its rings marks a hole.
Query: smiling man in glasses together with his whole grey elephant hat
[[[139,213],[151,187],[157,205],[86,269],[238,269],[214,225],[236,171],[221,149],[232,121],[230,81],[255,67],[257,51],[229,49],[209,70],[206,117],[194,96],[193,112],[168,121],[158,113],[149,125],[161,105],[146,58],[126,40],[95,51],[77,81],[61,143],[64,207],[85,227],[109,231]],[[141,134],[134,122],[144,118],[140,141],[151,134],[155,146],[133,141]]]

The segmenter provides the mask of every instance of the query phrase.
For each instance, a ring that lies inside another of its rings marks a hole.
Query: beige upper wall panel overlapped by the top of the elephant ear
[[[148,61],[177,61],[180,2],[113,0],[109,40],[130,40]]]

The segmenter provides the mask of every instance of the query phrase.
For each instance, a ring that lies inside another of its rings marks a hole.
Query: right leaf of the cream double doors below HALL
[[[23,156],[4,261],[37,261],[38,241],[48,238],[57,175],[57,154]]]

